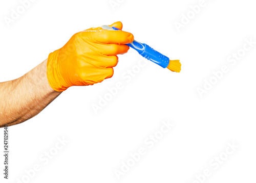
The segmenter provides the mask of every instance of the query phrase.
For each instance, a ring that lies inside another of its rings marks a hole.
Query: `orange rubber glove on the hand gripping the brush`
[[[111,27],[120,31],[91,28],[76,33],[62,48],[48,57],[47,79],[55,91],[65,91],[71,86],[87,86],[100,83],[113,76],[118,54],[124,54],[134,37],[121,31],[122,23]]]

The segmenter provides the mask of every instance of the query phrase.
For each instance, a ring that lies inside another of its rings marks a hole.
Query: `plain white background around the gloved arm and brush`
[[[21,4],[1,0],[0,82],[22,76],[76,32],[115,21],[122,21],[123,30],[136,40],[180,59],[182,70],[174,73],[149,62],[127,81],[122,74],[144,60],[130,49],[119,56],[111,79],[71,87],[36,117],[9,127],[10,179],[3,178],[1,155],[0,182],[17,182],[36,164],[41,170],[27,182],[197,183],[195,176],[205,169],[211,175],[203,182],[255,181],[256,44],[236,64],[227,61],[246,39],[256,41],[255,3],[205,0],[178,31],[175,22],[198,0],[114,2],[118,6],[112,8],[109,0],[36,0],[8,27],[4,18]],[[200,97],[198,88],[204,89],[222,66],[228,72]],[[95,114],[92,104],[117,82],[124,88]],[[150,149],[144,140],[158,132],[162,120],[175,125]],[[53,148],[58,137],[69,142],[44,165],[39,156]],[[225,157],[228,143],[239,147]],[[140,147],[146,154],[118,180],[114,170]],[[210,162],[220,154],[226,160],[214,169]]]

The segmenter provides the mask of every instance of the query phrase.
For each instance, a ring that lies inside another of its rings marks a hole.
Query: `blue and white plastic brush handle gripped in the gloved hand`
[[[112,29],[111,29],[112,28]],[[109,27],[108,25],[103,25],[102,29],[108,29],[108,30],[120,30],[115,27]],[[132,48],[134,48],[138,53],[146,58],[147,60],[150,60],[158,65],[160,65],[163,68],[166,68],[169,65],[169,58],[164,56],[163,54],[159,53],[152,47],[148,46],[145,43],[140,43],[136,40],[134,40],[132,43],[126,44]]]

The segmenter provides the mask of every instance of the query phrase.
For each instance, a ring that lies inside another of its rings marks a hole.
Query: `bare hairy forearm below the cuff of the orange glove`
[[[34,117],[61,93],[48,84],[46,70],[47,60],[16,80],[0,83],[0,127]]]

